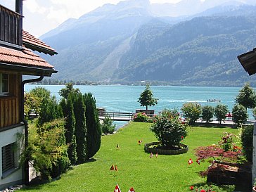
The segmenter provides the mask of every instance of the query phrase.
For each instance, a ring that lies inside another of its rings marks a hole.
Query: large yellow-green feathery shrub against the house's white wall
[[[53,120],[40,127],[30,124],[29,142],[20,156],[20,164],[32,163],[43,179],[58,177],[70,166],[65,141],[64,120]]]

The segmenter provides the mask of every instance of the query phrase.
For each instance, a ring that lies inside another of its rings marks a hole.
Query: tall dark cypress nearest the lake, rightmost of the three
[[[87,148],[88,158],[93,157],[101,147],[101,126],[98,120],[98,110],[95,98],[91,93],[84,94],[87,119]]]

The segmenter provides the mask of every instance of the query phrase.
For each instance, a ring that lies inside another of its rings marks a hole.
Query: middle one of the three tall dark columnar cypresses
[[[85,105],[81,93],[74,98],[75,136],[77,139],[77,163],[83,163],[88,159],[87,151],[87,125],[85,118]]]

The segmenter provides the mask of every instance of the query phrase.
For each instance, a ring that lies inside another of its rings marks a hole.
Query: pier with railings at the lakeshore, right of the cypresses
[[[98,115],[100,120],[104,120],[105,117],[110,117],[113,121],[131,121],[134,119],[135,113],[125,113],[125,112],[101,112]]]

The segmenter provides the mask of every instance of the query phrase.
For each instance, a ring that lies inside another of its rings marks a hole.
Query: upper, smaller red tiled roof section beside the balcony
[[[50,55],[57,54],[56,50],[52,49],[51,46],[45,44],[43,41],[40,41],[32,34],[29,34],[23,30],[23,45],[33,51],[39,51],[43,53],[48,53]]]

